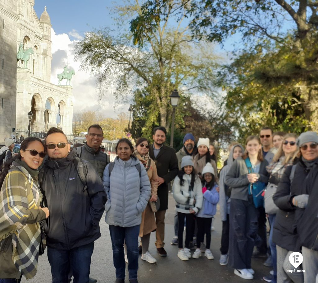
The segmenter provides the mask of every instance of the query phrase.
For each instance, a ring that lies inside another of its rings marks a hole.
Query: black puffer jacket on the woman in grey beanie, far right
[[[274,203],[280,208],[276,215],[273,241],[290,251],[298,251],[301,246],[318,250],[318,160],[307,168],[302,160],[295,165],[292,184],[288,166],[273,196]],[[294,196],[309,194],[305,209],[293,205]]]

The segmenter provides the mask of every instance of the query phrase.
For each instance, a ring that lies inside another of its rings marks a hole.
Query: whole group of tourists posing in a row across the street
[[[126,261],[129,282],[137,283],[139,249],[142,260],[156,262],[149,253],[151,232],[156,232],[157,253],[167,256],[164,220],[171,183],[176,204],[171,244],[178,245],[179,259],[198,259],[202,253],[214,258],[211,226],[219,204],[221,265],[252,279],[252,256],[270,254],[266,261],[273,272],[264,274],[267,282],[318,282],[317,133],[297,137],[264,127],[244,147],[230,145],[219,175],[209,138],[196,144],[187,133],[176,153],[164,144],[166,133],[157,127],[152,144],[139,138],[135,146],[121,138],[114,162],[101,150],[99,125],[91,125],[86,143],[73,149],[58,128],[47,132],[45,142],[25,138],[0,173],[0,283],[33,278],[45,246],[52,283],[72,277],[73,282],[96,282],[89,277],[90,265],[104,211],[115,282],[125,282]],[[302,252],[297,270],[305,273],[288,272],[294,269],[293,252]]]

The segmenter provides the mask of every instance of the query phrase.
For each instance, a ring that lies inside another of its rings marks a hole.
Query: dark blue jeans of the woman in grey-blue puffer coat
[[[138,271],[138,235],[140,225],[120,227],[109,225],[110,239],[113,246],[113,259],[116,278],[124,279],[126,263],[124,257],[124,242],[127,246],[129,279],[137,279]]]

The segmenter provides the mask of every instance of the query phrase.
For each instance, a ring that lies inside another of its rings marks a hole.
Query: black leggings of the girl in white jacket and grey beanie
[[[178,212],[178,245],[179,249],[183,248],[183,227],[184,227],[184,217],[185,217],[185,247],[189,248],[189,243],[193,238],[195,216],[192,213]]]

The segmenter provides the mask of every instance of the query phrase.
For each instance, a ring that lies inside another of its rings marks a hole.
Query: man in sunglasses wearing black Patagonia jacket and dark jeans
[[[48,159],[40,172],[40,184],[49,208],[47,257],[52,283],[89,282],[94,241],[100,238],[99,221],[107,201],[103,183],[94,167],[82,160],[85,183],[79,177],[79,162],[62,130],[51,128],[45,139]]]

